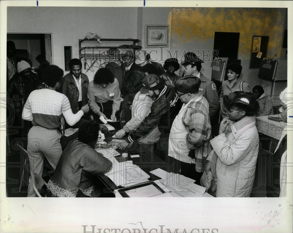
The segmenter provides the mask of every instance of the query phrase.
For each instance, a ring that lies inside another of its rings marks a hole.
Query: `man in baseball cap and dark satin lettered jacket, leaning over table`
[[[148,94],[154,99],[151,106],[151,112],[144,121],[129,133],[126,143],[122,148],[130,146],[135,141],[140,141],[146,137],[149,132],[158,128],[162,134],[169,134],[173,120],[181,108],[181,103],[176,96],[175,88],[166,86],[157,75],[146,75],[142,80],[143,87],[141,93]],[[158,138],[156,138],[158,140]],[[150,141],[148,144],[153,144],[155,141]],[[123,144],[123,143],[122,143]],[[121,149],[121,148],[120,148]]]

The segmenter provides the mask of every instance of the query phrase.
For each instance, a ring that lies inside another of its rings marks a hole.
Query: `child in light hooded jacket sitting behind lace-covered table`
[[[256,85],[253,87],[252,92],[259,104],[259,116],[273,115],[273,107],[271,106],[272,98],[265,93],[262,86]]]

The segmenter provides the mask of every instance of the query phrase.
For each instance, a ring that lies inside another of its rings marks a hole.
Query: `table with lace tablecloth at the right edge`
[[[275,139],[280,139],[282,136],[282,132],[286,127],[287,123],[281,121],[277,122],[274,120],[269,120],[268,117],[277,117],[277,115],[270,115],[270,116],[260,116],[256,118],[256,128],[258,132],[268,135]]]

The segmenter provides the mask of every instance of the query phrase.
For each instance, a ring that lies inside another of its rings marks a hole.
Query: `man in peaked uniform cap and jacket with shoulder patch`
[[[201,84],[199,91],[202,92],[202,95],[207,99],[207,102],[209,103],[209,117],[210,119],[213,119],[220,106],[219,96],[216,84],[200,73],[202,68],[201,63],[203,62],[204,61],[198,58],[194,53],[190,52],[185,55],[185,61],[182,65],[184,66],[185,76],[193,75],[200,78]]]

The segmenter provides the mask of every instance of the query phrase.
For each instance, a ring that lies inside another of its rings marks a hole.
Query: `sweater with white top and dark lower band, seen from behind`
[[[73,114],[68,98],[52,89],[39,89],[30,93],[25,102],[22,117],[47,129],[57,129],[60,126],[60,118],[64,116],[69,125],[74,125],[80,120],[83,111]]]

